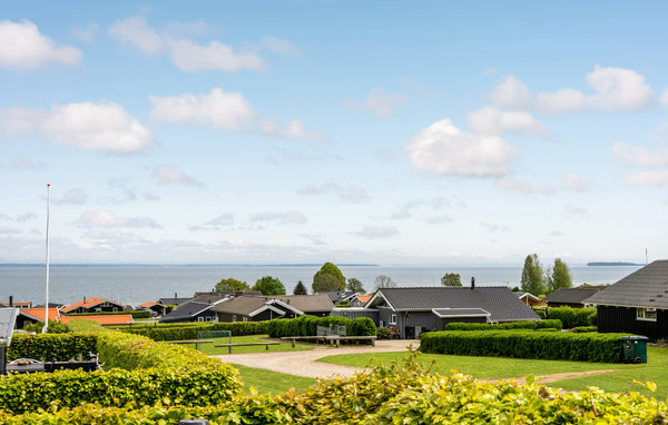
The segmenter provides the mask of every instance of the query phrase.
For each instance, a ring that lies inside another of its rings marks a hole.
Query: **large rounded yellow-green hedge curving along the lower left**
[[[0,379],[0,409],[18,414],[81,403],[206,406],[227,402],[242,389],[235,368],[199,352],[119,332],[96,336],[105,370],[6,376]]]

